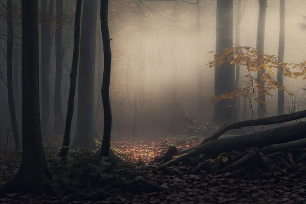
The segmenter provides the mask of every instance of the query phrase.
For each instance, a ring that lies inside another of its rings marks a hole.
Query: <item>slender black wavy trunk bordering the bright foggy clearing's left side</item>
[[[109,157],[110,133],[111,133],[111,109],[109,103],[109,83],[111,70],[111,50],[109,39],[109,0],[101,0],[101,31],[104,51],[104,72],[101,88],[103,110],[104,110],[104,131],[101,146],[101,156]]]

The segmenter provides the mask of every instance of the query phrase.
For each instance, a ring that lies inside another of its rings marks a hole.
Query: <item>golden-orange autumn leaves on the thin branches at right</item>
[[[245,87],[236,87],[233,91],[214,96],[212,98],[213,102],[243,96],[249,98],[250,101],[252,99],[261,104],[265,104],[266,102],[260,100],[259,96],[262,94],[272,96],[270,93],[271,90],[283,90],[290,96],[293,96],[291,91],[273,78],[277,70],[282,70],[286,77],[303,77],[303,79],[306,79],[306,61],[302,63],[279,63],[277,62],[277,56],[262,55],[256,48],[249,46],[226,48],[222,52],[215,53],[215,60],[209,63],[209,67],[213,68],[224,64],[244,66],[248,71],[248,74],[244,75],[248,79],[248,83]],[[262,70],[265,70],[265,72]],[[257,72],[262,73],[259,79],[254,76]]]

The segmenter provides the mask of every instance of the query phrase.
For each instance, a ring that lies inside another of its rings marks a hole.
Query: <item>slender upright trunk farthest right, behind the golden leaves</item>
[[[284,47],[285,47],[285,0],[280,0],[280,38],[278,47],[278,62],[284,62]],[[277,82],[284,85],[283,68],[280,67],[277,71]],[[284,114],[284,91],[278,91],[277,98],[277,114]]]

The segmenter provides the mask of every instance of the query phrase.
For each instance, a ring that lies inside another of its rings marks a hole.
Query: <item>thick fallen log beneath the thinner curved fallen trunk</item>
[[[197,146],[195,149],[175,157],[163,165],[168,166],[198,153],[210,155],[231,150],[241,150],[246,147],[263,147],[265,145],[279,144],[293,140],[306,138],[306,122],[284,125],[254,133],[239,136],[229,136],[217,140],[211,140]]]

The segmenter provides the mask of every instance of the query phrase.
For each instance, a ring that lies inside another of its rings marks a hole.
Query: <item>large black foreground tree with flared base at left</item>
[[[38,3],[22,0],[22,161],[5,192],[54,193],[44,158],[39,107]]]

